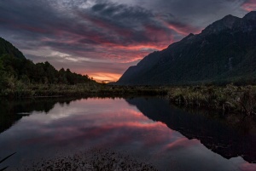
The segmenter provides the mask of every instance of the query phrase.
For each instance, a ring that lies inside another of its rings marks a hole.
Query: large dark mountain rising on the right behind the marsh
[[[119,85],[256,83],[256,12],[227,15],[131,66]]]

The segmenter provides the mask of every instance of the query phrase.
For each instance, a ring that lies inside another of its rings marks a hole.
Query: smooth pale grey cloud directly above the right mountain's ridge
[[[247,0],[120,0],[122,3],[138,2],[151,11],[172,15],[183,23],[204,28],[227,14],[242,17],[246,11],[241,8]],[[251,0],[253,1],[253,0]],[[117,1],[116,1],[117,2]]]

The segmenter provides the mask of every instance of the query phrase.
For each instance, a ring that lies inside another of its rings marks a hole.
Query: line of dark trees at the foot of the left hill
[[[87,75],[74,73],[69,69],[56,70],[48,61],[34,64],[32,60],[17,58],[11,54],[0,56],[0,86],[9,88],[14,82],[32,84],[95,83]]]

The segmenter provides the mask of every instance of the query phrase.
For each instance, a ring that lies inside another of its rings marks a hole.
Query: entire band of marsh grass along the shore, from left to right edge
[[[0,96],[8,98],[24,97],[83,97],[89,95],[119,97],[125,95],[164,95],[176,105],[199,106],[214,110],[241,112],[247,116],[256,114],[256,86],[186,86],[150,87],[117,86],[101,83],[32,84],[9,82],[0,88]]]

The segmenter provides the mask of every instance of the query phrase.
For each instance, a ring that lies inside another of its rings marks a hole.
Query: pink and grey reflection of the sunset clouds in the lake
[[[55,157],[58,151],[74,153],[102,147],[149,158],[162,170],[169,168],[171,162],[183,167],[188,161],[188,168],[202,168],[201,162],[205,168],[235,168],[232,161],[208,150],[198,140],[188,140],[165,124],[148,119],[137,107],[119,98],[78,100],[68,106],[56,104],[47,115],[34,112],[23,117],[0,139],[3,154],[19,151],[13,162],[20,165],[37,157]],[[242,163],[241,158],[239,164]]]

